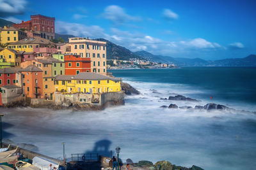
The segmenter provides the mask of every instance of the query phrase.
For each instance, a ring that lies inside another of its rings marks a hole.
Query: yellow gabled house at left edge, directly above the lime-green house
[[[15,67],[20,67],[21,55],[23,52],[17,52],[13,49],[4,48],[0,52],[0,59],[5,63],[13,63]]]

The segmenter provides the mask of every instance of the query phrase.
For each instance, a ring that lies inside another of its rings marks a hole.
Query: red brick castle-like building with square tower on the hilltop
[[[41,38],[55,38],[54,17],[46,17],[44,15],[31,15],[30,18],[31,20],[29,21],[22,21],[20,24],[13,24],[13,27],[17,29],[33,31],[35,34],[40,34]]]

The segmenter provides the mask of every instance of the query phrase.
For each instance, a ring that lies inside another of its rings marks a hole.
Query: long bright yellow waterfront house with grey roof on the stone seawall
[[[54,83],[56,91],[68,93],[101,94],[120,92],[121,90],[120,78],[89,72],[82,72],[77,75],[58,75]]]

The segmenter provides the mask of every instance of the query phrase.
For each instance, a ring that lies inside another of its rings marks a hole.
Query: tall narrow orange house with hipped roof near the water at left
[[[43,98],[42,69],[30,65],[20,71],[24,74],[23,90],[26,97]]]

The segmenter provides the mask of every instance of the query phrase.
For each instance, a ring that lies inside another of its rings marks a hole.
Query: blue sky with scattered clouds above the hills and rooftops
[[[0,0],[0,18],[55,17],[55,32],[132,52],[218,60],[256,54],[255,0]]]

